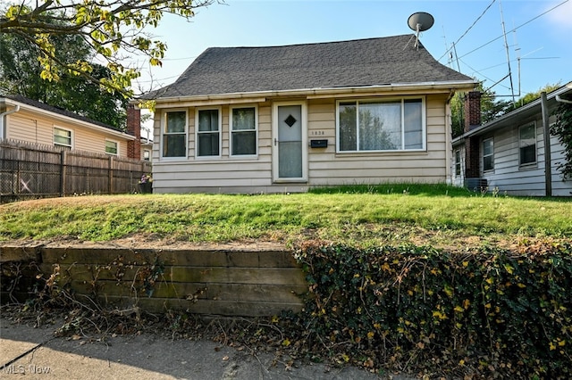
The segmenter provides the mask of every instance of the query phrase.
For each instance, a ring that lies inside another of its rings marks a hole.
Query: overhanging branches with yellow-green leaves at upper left
[[[165,13],[186,19],[194,10],[214,0],[21,0],[0,5],[0,32],[18,35],[38,47],[40,77],[59,80],[63,75],[87,78],[109,91],[133,95],[131,81],[140,69],[125,64],[126,54],[144,54],[151,65],[161,65],[167,46],[146,32],[155,28]],[[88,59],[66,62],[57,50],[55,37],[79,37],[105,59],[108,78],[94,75]]]

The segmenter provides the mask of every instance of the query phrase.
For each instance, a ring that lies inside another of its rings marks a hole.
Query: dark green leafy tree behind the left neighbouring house
[[[56,36],[53,39],[58,59],[62,62],[88,60],[91,47],[78,36]],[[40,77],[38,46],[19,35],[0,35],[0,92],[22,95],[29,99],[76,112],[115,128],[124,128],[127,99],[119,92],[102,90],[88,78],[63,73],[58,81]],[[94,78],[110,78],[110,70],[92,64]]]

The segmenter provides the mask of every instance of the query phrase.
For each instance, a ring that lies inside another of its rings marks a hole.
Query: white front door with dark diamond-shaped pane
[[[278,103],[273,108],[274,181],[306,181],[307,138],[304,103]]]

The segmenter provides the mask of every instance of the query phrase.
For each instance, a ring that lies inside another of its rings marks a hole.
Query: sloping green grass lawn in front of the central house
[[[80,196],[0,206],[0,241],[130,236],[193,243],[323,239],[356,246],[510,243],[572,236],[569,199],[518,198],[413,184],[307,194]]]

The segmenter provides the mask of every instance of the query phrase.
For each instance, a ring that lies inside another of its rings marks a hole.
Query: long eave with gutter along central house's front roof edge
[[[394,92],[394,91],[469,91],[476,86],[475,80],[465,81],[443,81],[443,82],[420,82],[420,83],[397,83],[372,86],[344,86],[344,87],[316,87],[316,88],[300,88],[289,90],[270,90],[246,93],[229,93],[229,94],[213,94],[213,95],[189,95],[189,96],[167,96],[156,99],[156,108],[166,108],[172,106],[173,103],[179,106],[193,105],[194,103],[229,101],[237,102],[264,102],[268,97],[283,96],[305,96],[307,99],[317,99],[324,97],[332,97],[338,95],[363,95],[366,93],[376,92]]]

